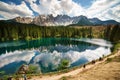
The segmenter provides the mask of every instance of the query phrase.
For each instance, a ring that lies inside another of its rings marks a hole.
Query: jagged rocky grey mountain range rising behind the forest
[[[110,25],[110,24],[120,24],[115,20],[102,21],[98,18],[87,18],[86,16],[76,16],[70,17],[68,15],[57,15],[54,17],[50,15],[39,15],[35,18],[30,17],[16,17],[8,21],[25,23],[25,24],[35,24],[38,26],[92,26],[92,25]]]

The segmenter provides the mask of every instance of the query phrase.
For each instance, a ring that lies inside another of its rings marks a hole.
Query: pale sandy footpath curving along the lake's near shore
[[[62,73],[62,72],[58,72],[58,73],[52,73],[52,74],[41,74],[39,76],[30,76],[30,79],[28,77],[28,80],[59,80],[60,78],[64,77],[64,76],[74,76],[77,75],[78,73],[81,73],[85,70],[89,70],[91,68],[93,68],[94,66],[101,64],[103,62],[105,62],[108,58],[113,58],[115,56],[120,55],[120,50],[118,50],[117,52],[113,52],[110,55],[106,56],[105,58],[103,58],[102,61],[96,60],[95,64],[91,64],[91,62],[86,64],[86,67],[77,67],[77,69],[71,69],[70,71],[66,72],[66,73]]]

